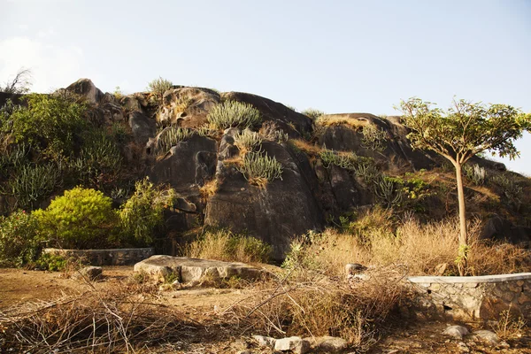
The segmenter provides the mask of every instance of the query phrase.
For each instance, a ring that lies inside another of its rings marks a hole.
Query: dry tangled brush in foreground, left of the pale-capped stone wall
[[[265,281],[225,310],[243,327],[273,336],[341,336],[366,350],[404,295],[403,274],[373,270],[368,281],[332,281],[315,273],[289,273]]]

